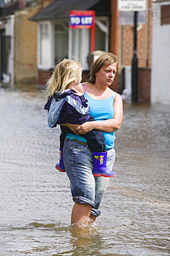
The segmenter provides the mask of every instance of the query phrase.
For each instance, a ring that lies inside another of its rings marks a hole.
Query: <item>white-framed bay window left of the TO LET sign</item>
[[[65,57],[68,58],[68,22],[39,22],[37,47],[39,69],[50,70]]]

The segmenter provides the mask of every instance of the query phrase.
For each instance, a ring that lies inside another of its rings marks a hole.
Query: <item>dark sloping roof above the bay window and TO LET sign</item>
[[[111,15],[110,0],[55,0],[30,20],[69,17],[70,10],[95,10],[97,15]]]

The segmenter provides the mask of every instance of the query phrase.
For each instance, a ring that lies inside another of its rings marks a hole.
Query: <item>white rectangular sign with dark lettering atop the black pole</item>
[[[120,11],[142,11],[146,10],[146,0],[118,0]]]

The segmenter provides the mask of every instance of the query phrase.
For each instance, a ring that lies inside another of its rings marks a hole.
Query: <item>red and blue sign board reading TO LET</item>
[[[95,11],[70,10],[70,28],[93,28]]]

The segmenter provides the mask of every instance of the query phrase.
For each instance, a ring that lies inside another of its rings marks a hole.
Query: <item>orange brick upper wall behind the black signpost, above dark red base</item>
[[[117,1],[111,0],[111,31],[110,50],[117,55],[118,62],[122,66],[131,65],[133,57],[133,25],[119,24],[119,10]],[[137,55],[139,67],[151,67],[152,47],[152,0],[148,1],[146,11],[146,23],[138,24]]]

